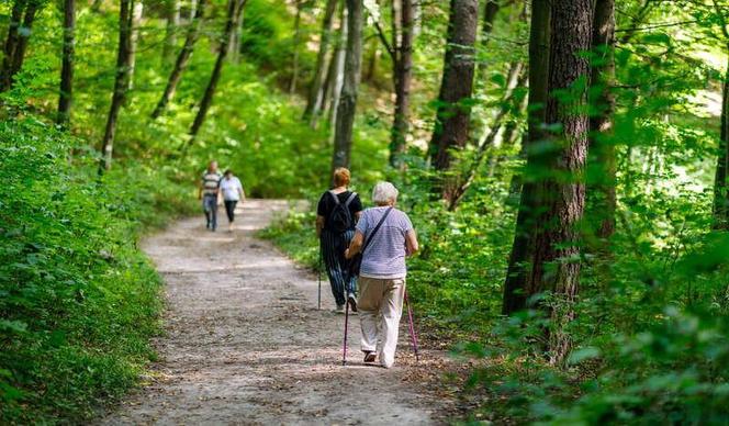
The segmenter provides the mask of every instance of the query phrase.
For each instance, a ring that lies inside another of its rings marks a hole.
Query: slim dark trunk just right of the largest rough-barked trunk
[[[587,194],[592,200],[594,220],[597,225],[595,236],[603,243],[601,250],[605,251],[606,239],[615,232],[616,209],[616,158],[615,145],[609,141],[613,132],[613,115],[615,113],[615,0],[596,0],[593,29],[593,48],[597,55],[592,68],[592,85],[599,89],[593,103],[599,113],[590,120],[590,153],[592,165],[588,177],[592,184]]]

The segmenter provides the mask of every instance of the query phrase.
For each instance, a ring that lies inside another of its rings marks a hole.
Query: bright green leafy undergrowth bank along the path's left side
[[[136,240],[189,211],[139,165],[96,160],[33,116],[0,124],[0,422],[85,418],[154,357],[160,280]]]

